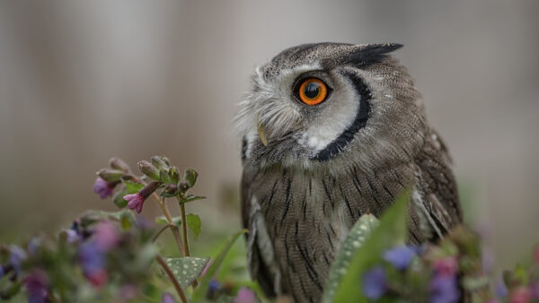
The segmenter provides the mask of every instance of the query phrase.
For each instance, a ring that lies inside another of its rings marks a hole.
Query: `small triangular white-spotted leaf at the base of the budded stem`
[[[199,278],[200,273],[208,264],[209,258],[199,258],[186,256],[182,258],[163,258],[164,262],[171,269],[176,280],[180,282],[181,288],[186,289],[190,284]]]

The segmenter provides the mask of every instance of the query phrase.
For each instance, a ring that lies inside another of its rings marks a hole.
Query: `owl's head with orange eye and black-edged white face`
[[[236,126],[243,160],[268,166],[363,169],[410,160],[424,115],[399,44],[305,44],[256,69]]]

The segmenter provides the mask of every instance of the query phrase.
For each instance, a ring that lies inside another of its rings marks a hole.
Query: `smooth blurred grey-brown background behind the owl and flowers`
[[[306,42],[398,42],[467,220],[513,264],[539,241],[538,13],[536,0],[3,1],[0,242],[114,210],[92,192],[112,156],[197,169],[203,229],[239,229],[231,119],[254,68]]]

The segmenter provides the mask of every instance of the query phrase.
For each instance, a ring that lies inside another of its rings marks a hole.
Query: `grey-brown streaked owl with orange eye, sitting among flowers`
[[[446,145],[390,55],[401,47],[305,44],[256,68],[235,125],[248,263],[270,297],[320,301],[354,223],[407,188],[411,244],[462,221]]]

